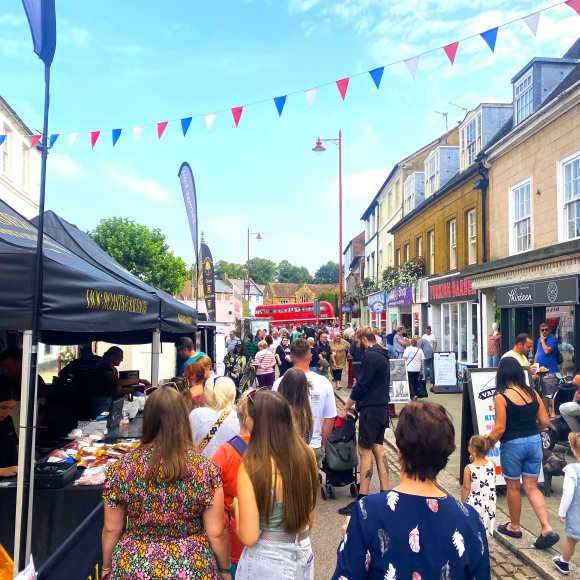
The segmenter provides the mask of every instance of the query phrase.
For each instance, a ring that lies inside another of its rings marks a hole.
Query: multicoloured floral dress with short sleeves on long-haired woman
[[[186,479],[147,481],[150,459],[150,448],[137,449],[107,471],[103,499],[128,517],[113,550],[111,578],[219,578],[201,519],[222,485],[219,468],[191,452]]]

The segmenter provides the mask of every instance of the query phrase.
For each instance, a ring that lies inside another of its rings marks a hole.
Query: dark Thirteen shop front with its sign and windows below
[[[538,329],[547,322],[558,338],[562,373],[574,374],[576,326],[580,322],[578,276],[499,286],[495,301],[501,313],[503,352],[513,347],[518,334],[525,332],[534,339],[535,353]]]

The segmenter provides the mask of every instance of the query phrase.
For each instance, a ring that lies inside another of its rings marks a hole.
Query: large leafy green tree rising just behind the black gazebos
[[[95,242],[131,274],[169,294],[178,294],[189,272],[165,243],[160,229],[150,230],[127,218],[102,219],[89,232]]]

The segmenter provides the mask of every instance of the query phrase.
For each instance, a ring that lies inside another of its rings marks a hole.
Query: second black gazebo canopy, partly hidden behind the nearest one
[[[32,223],[36,225],[38,218]],[[44,231],[52,239],[82,258],[85,262],[116,278],[155,295],[159,299],[159,328],[162,340],[174,340],[178,336],[195,332],[197,313],[194,308],[179,302],[163,290],[146,284],[123,268],[119,262],[107,254],[87,233],[67,222],[52,211],[44,213]]]

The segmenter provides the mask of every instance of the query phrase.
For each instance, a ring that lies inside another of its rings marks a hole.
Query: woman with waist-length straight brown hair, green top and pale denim
[[[252,437],[232,504],[245,545],[236,578],[272,578],[282,566],[288,577],[311,580],[310,530],[318,491],[314,452],[298,434],[290,405],[279,393],[250,393],[248,422]]]

